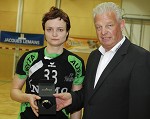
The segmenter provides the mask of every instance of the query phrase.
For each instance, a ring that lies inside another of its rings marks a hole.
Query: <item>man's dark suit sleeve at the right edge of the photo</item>
[[[129,118],[150,119],[150,53],[137,59],[129,89]]]

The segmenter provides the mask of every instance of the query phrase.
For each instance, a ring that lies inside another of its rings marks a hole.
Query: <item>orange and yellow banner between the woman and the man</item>
[[[90,53],[100,46],[97,39],[72,38],[69,37],[65,43],[65,48],[72,52]]]

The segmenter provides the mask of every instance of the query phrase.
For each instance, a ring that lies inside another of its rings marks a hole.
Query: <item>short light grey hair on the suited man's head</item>
[[[95,15],[97,14],[103,14],[105,12],[110,12],[110,11],[116,14],[116,17],[118,20],[122,19],[121,8],[113,2],[104,2],[104,3],[97,5],[93,9],[93,17],[95,17]]]

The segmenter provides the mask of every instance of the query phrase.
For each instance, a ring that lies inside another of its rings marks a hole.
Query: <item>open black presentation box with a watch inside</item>
[[[55,84],[49,80],[39,81],[39,96],[38,100],[39,115],[54,115],[56,114],[56,100],[53,94],[55,93]]]

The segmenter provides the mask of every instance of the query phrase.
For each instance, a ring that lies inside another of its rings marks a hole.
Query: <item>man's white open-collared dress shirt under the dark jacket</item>
[[[102,53],[98,67],[97,67],[97,72],[96,72],[96,77],[95,77],[95,83],[94,83],[94,88],[102,74],[102,72],[104,71],[104,69],[106,68],[106,66],[108,65],[108,63],[110,62],[110,60],[113,58],[113,56],[115,55],[115,53],[117,52],[117,50],[120,48],[120,46],[122,45],[122,43],[125,41],[125,37],[123,37],[123,39],[118,42],[111,50],[105,52],[105,49],[103,48],[103,46],[99,47],[99,51]]]

